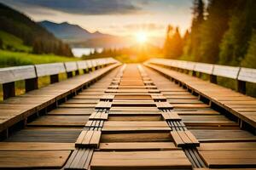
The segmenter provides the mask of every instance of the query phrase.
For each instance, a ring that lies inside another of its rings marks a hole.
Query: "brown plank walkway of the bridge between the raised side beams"
[[[256,168],[255,128],[241,127],[231,112],[146,66],[110,70],[60,105],[29,117],[25,127],[12,127],[0,142],[0,169]],[[73,80],[85,81],[73,77],[68,84]]]

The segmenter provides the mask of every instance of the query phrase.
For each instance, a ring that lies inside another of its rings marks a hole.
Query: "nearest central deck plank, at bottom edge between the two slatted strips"
[[[97,169],[191,169],[191,164],[181,150],[99,152],[91,159],[91,170]]]

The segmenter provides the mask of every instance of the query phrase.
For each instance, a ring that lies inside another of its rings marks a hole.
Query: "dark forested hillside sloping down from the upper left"
[[[9,8],[3,3],[0,3],[0,23],[1,38],[17,37],[15,39],[20,39],[20,44],[32,47],[32,52],[35,54],[73,56],[67,43],[61,42],[61,40],[25,14]],[[2,42],[8,42],[8,40],[3,39]],[[5,49],[15,50],[15,47],[10,47],[12,46],[11,44],[14,43],[9,43]],[[18,50],[20,51],[21,49],[19,48]]]

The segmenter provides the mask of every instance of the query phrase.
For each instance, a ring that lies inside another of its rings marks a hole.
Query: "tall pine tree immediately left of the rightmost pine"
[[[219,44],[224,32],[228,30],[230,9],[236,0],[211,0],[207,20],[201,26],[201,45],[198,61],[218,63]]]

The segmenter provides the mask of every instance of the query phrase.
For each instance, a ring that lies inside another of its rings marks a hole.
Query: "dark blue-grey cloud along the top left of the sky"
[[[124,0],[1,0],[3,3],[32,5],[69,14],[135,14],[141,8]]]

